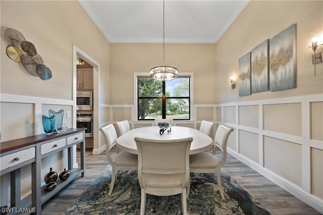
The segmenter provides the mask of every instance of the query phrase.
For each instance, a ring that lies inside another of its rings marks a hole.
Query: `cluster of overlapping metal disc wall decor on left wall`
[[[41,56],[37,54],[36,47],[19,31],[7,28],[4,33],[5,39],[10,46],[7,47],[7,54],[10,59],[21,62],[27,73],[39,77],[42,80],[49,80],[52,77],[51,70],[44,65]]]

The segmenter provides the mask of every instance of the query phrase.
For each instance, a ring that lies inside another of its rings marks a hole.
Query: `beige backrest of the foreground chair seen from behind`
[[[135,137],[138,151],[138,179],[146,187],[149,174],[182,173],[182,188],[189,183],[189,154],[192,137],[176,140],[152,140]],[[164,187],[165,188],[165,187]]]

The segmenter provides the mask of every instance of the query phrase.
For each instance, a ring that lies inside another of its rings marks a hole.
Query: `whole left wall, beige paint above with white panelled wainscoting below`
[[[43,133],[41,115],[48,115],[48,109],[71,111],[72,117],[64,117],[63,123],[72,127],[76,104],[73,101],[73,91],[76,91],[73,89],[73,80],[76,80],[73,44],[100,64],[100,81],[109,83],[109,41],[78,1],[0,1],[0,10],[2,38],[4,27],[21,32],[35,45],[44,64],[52,71],[52,78],[47,81],[29,75],[7,56],[8,45],[1,39],[1,141]],[[109,103],[109,96],[110,85],[101,85],[101,101]],[[49,167],[61,172],[67,167],[66,158],[67,154],[62,152],[43,159],[41,175]],[[31,184],[30,166],[22,169],[23,184]],[[1,176],[0,184],[1,205],[7,205],[9,174]],[[22,197],[30,193],[30,187],[22,187]]]

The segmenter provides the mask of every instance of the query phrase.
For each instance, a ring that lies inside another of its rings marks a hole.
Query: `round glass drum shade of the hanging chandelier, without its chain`
[[[150,69],[150,78],[156,81],[171,81],[178,77],[178,70],[172,66],[156,66]]]

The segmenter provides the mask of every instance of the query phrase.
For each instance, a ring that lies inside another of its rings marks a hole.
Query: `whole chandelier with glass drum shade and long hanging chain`
[[[178,77],[178,70],[165,65],[165,0],[163,1],[163,65],[150,69],[150,77],[156,81],[171,81]]]

